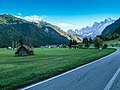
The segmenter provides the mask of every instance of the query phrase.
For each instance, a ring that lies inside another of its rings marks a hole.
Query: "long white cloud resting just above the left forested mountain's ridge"
[[[16,16],[18,18],[30,21],[30,22],[36,22],[39,23],[41,20],[47,18],[47,16],[42,15],[42,16],[38,16],[38,15],[32,15],[32,16],[21,16],[22,14],[19,14],[19,16]]]

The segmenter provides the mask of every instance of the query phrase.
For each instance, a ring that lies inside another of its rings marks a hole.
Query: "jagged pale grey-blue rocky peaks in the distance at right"
[[[102,31],[110,24],[114,23],[115,20],[111,18],[105,19],[101,22],[95,22],[92,27],[85,27],[82,29],[68,30],[67,33],[74,36],[80,37],[91,37],[95,38],[97,35],[101,35]]]

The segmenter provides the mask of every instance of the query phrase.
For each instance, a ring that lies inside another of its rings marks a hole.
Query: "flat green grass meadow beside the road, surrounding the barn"
[[[15,57],[0,49],[0,90],[18,89],[94,61],[115,49],[34,49],[34,56]]]

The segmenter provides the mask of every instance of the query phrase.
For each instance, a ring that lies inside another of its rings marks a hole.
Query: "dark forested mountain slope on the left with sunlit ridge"
[[[12,45],[12,41],[22,38],[30,46],[68,44],[70,39],[80,42],[59,27],[41,21],[30,22],[10,14],[0,15],[0,47]]]

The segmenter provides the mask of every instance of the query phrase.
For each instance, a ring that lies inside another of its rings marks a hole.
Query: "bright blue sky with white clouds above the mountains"
[[[0,14],[44,20],[64,31],[120,17],[120,0],[0,0]]]

